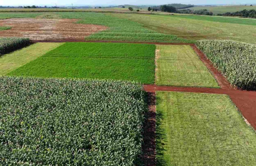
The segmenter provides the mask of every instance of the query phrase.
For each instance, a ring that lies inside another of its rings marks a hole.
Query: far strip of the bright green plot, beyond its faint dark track
[[[46,54],[51,57],[155,58],[155,46],[123,43],[65,43]]]

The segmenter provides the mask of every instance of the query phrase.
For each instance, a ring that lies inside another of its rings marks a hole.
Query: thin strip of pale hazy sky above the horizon
[[[0,0],[0,5],[255,4],[255,0]]]

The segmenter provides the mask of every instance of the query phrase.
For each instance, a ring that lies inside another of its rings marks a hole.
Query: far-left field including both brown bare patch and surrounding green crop
[[[37,15],[21,13],[20,16],[17,16],[16,13],[14,15],[0,13],[0,18],[3,19],[22,17],[23,15],[24,17],[29,18],[31,16],[33,18],[0,20],[0,25],[12,26],[9,31],[1,31],[0,36],[30,37],[39,41],[68,38],[79,41],[86,39],[90,41],[195,42],[178,38],[175,35],[158,33],[144,28],[143,24],[102,13],[52,12],[35,14]],[[48,18],[48,20],[44,18]],[[55,20],[52,18],[55,18]],[[27,22],[30,22],[31,26],[28,26]],[[74,29],[74,31],[71,32],[70,29]]]

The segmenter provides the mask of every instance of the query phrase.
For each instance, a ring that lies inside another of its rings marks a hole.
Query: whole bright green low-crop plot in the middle
[[[155,45],[66,43],[11,76],[131,80],[154,83]]]

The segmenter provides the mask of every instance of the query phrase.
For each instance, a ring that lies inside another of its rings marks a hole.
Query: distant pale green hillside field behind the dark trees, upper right
[[[223,14],[227,12],[236,12],[241,10],[256,10],[256,5],[227,5],[227,6],[196,6],[192,8],[188,8],[191,10],[202,10],[206,9],[208,11],[213,12],[214,14]]]

